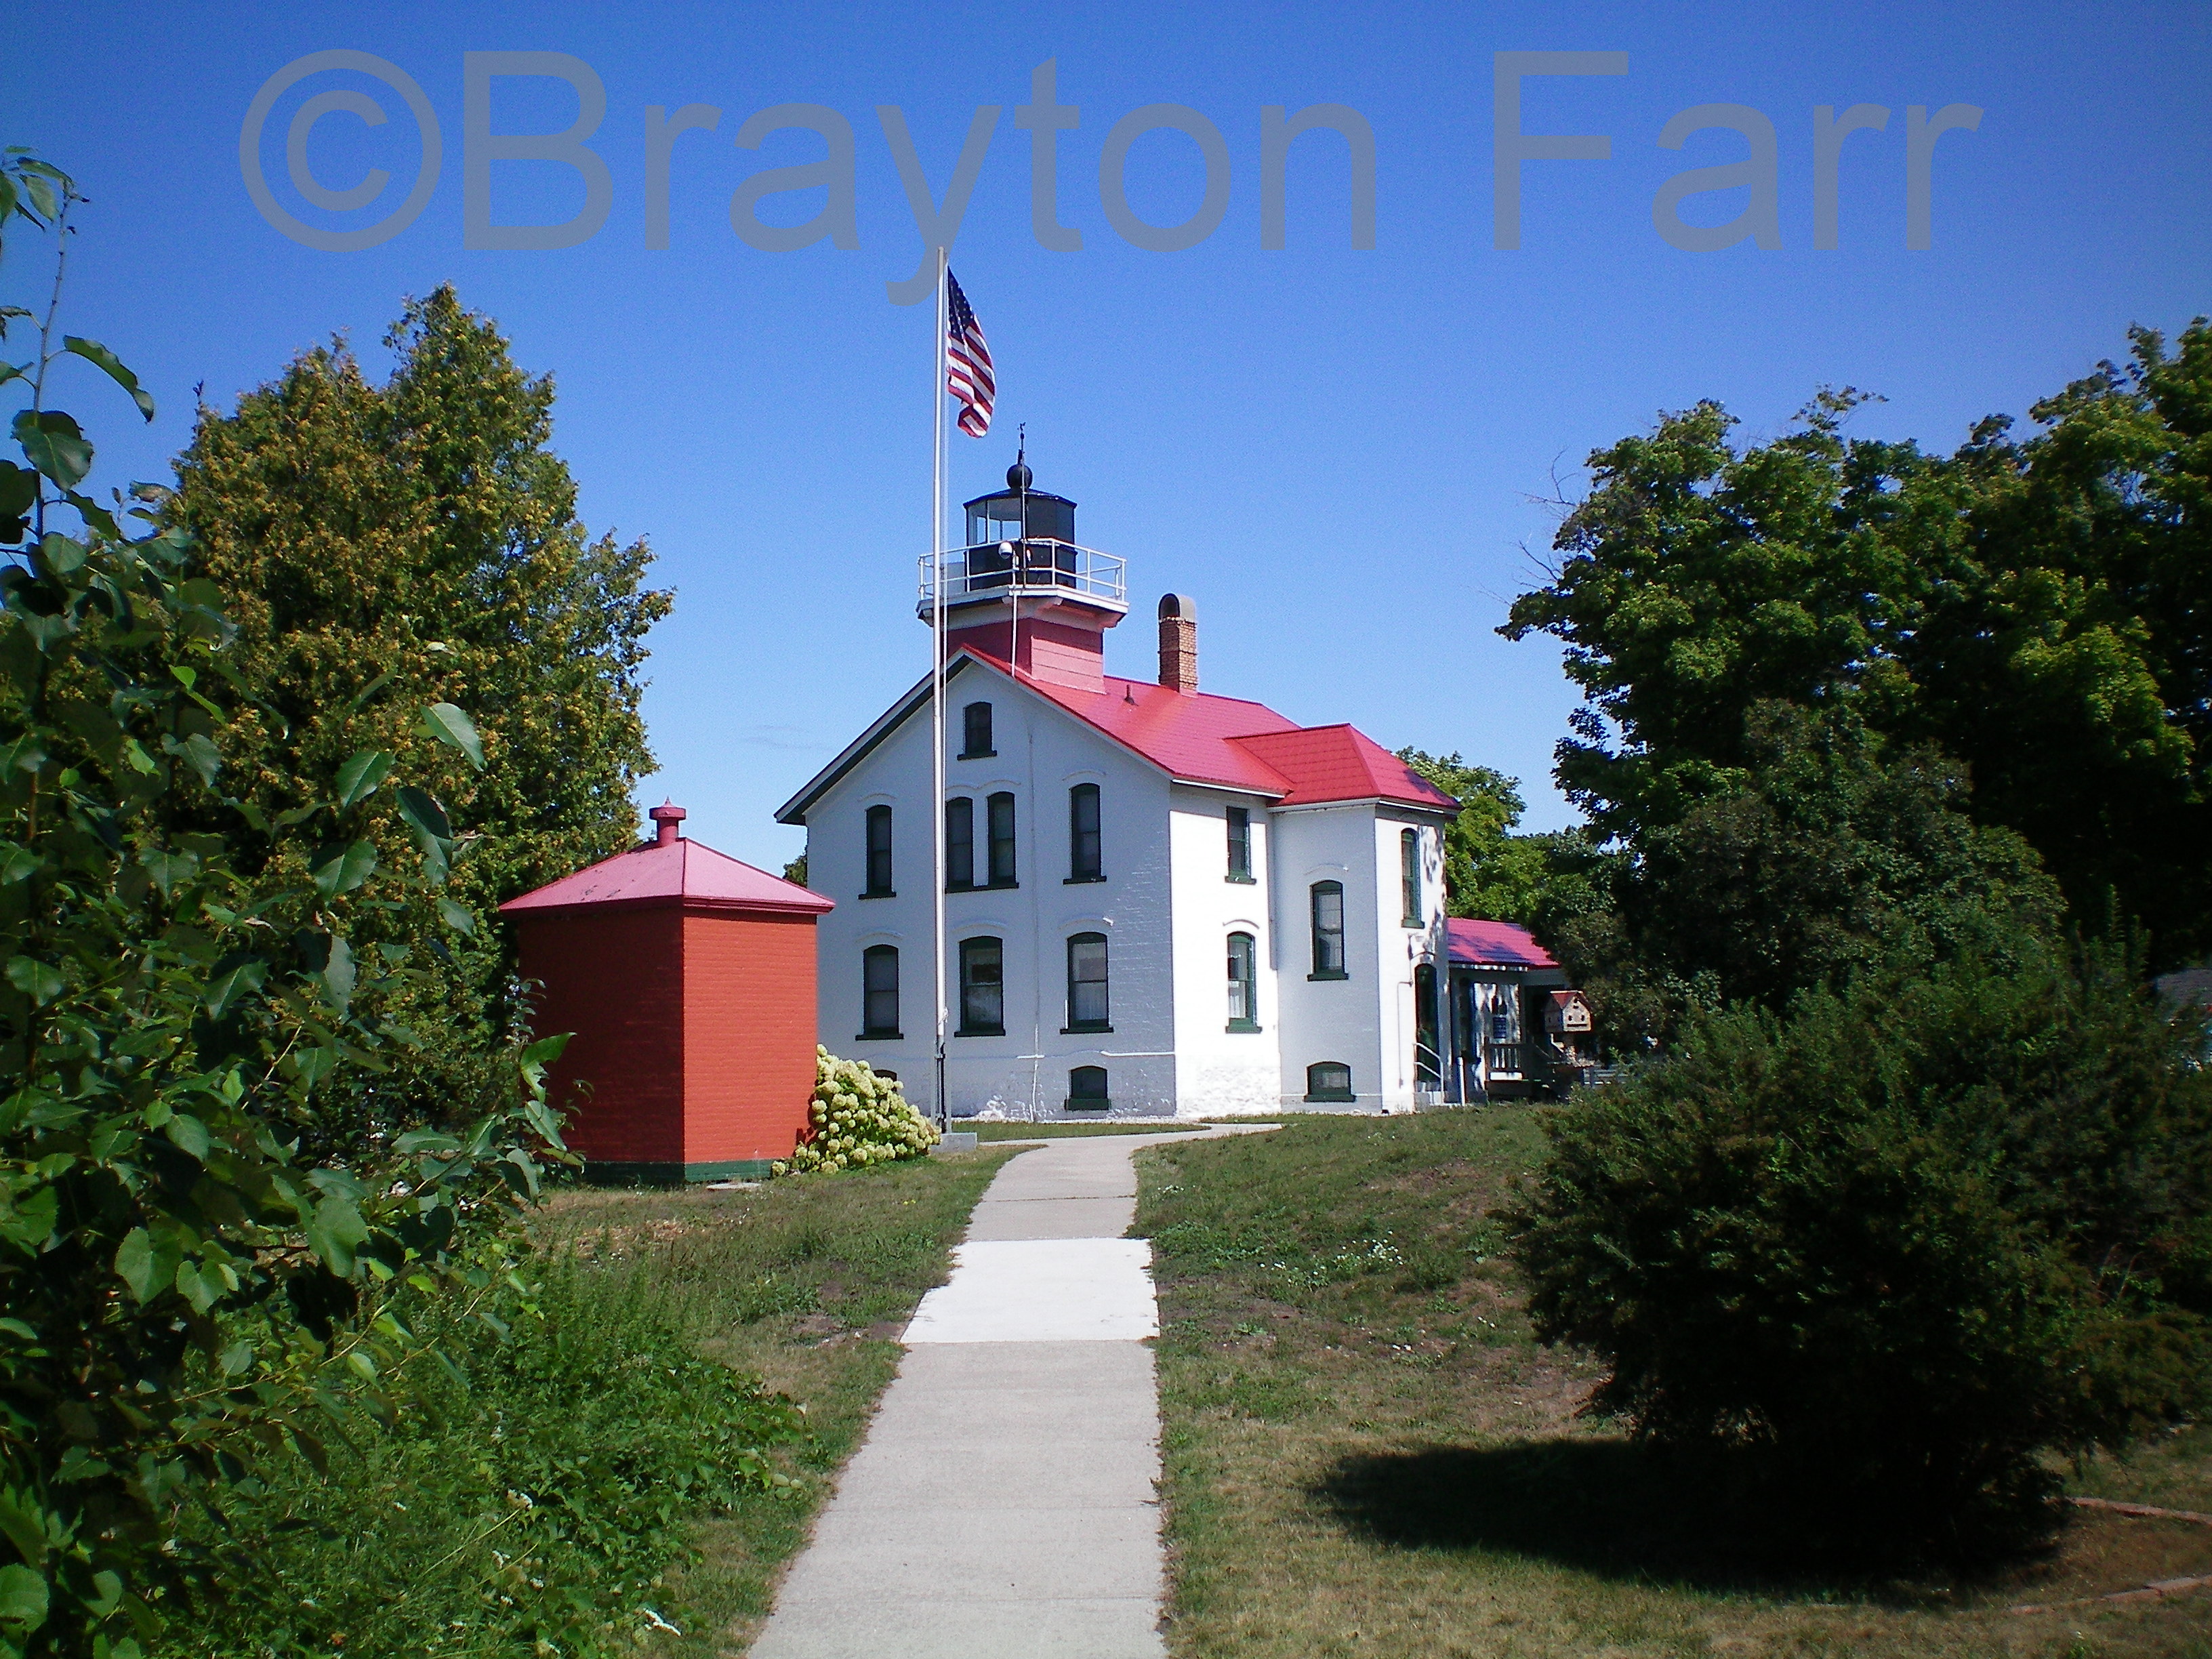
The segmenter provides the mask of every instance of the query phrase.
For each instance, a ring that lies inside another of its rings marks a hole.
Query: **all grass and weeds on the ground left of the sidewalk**
[[[177,1652],[743,1652],[898,1367],[905,1318],[1006,1157],[557,1192],[513,1336],[462,1332],[471,1385],[392,1427],[349,1422],[327,1478],[274,1460],[230,1528],[252,1595],[210,1608]],[[701,1462],[781,1418],[732,1378],[805,1409],[799,1436],[768,1447],[794,1480],[783,1495],[703,1498],[728,1475]]]

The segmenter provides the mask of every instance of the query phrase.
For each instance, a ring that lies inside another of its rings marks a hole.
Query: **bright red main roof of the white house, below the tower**
[[[973,646],[971,657],[1048,697],[1170,776],[1316,801],[1400,801],[1451,812],[1449,794],[1349,726],[1298,726],[1265,703],[1210,692],[1179,692],[1148,679],[1106,679],[1106,690],[1053,686]]]

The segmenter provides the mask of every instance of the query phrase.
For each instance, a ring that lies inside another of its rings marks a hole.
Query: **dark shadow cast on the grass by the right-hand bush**
[[[1736,1471],[1626,1440],[1559,1436],[1343,1458],[1314,1498],[1345,1531],[1387,1548],[1495,1551],[1608,1579],[1701,1590],[1924,1604],[1995,1588],[2046,1553],[1918,1566],[1880,1522],[1836,1524],[1818,1506],[1743,1495]]]

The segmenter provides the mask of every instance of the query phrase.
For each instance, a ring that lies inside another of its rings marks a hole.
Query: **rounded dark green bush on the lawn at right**
[[[2205,1402],[2199,1040],[2110,951],[1699,1013],[1551,1119],[1535,1325],[1610,1365],[1599,1409],[1840,1533],[2035,1524],[2039,1453]]]

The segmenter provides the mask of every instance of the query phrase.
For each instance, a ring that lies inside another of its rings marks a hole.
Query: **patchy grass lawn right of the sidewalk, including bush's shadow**
[[[1139,1155],[1161,1290],[1177,1659],[2212,1659],[2212,1528],[2081,1511],[1980,1582],[1752,1571],[1537,1345],[1489,1210],[1531,1108],[1292,1119]],[[2212,1511],[2212,1431],[2070,1486]],[[1710,1517],[1708,1517],[1710,1520]],[[2017,1615],[2017,1604],[2055,1604]]]

